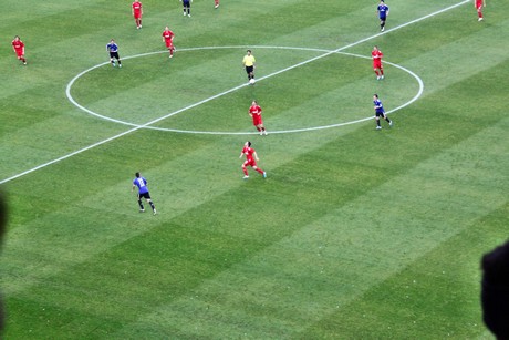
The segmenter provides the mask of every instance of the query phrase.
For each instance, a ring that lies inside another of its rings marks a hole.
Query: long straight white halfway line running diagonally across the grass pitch
[[[455,8],[457,8],[457,7],[460,7],[460,6],[463,6],[463,4],[467,3],[467,2],[470,2],[470,0],[464,0],[464,1],[458,2],[458,3],[456,3],[456,4],[449,6],[449,7],[445,8],[445,9],[435,11],[435,12],[433,12],[433,13],[426,14],[426,16],[420,17],[420,18],[418,18],[418,19],[414,19],[414,20],[408,21],[408,22],[406,22],[406,23],[399,24],[399,25],[397,25],[397,27],[395,27],[395,28],[388,29],[388,30],[386,30],[386,31],[384,31],[384,32],[380,32],[380,33],[377,33],[377,34],[374,34],[374,35],[371,35],[371,37],[361,39],[361,40],[359,40],[359,41],[356,41],[356,42],[352,42],[352,43],[350,43],[350,44],[347,44],[347,45],[344,45],[344,47],[342,47],[342,48],[339,48],[339,49],[336,49],[336,50],[332,50],[332,51],[326,52],[326,53],[324,53],[324,54],[321,54],[321,55],[311,58],[311,59],[309,59],[309,60],[307,60],[307,61],[300,62],[300,63],[294,64],[294,65],[292,65],[292,66],[282,69],[282,70],[277,71],[277,72],[274,72],[274,73],[271,73],[271,74],[269,74],[269,75],[266,75],[266,76],[263,76],[263,79],[267,79],[267,78],[269,78],[269,76],[274,76],[274,75],[281,74],[281,73],[283,73],[283,72],[287,72],[287,71],[293,70],[293,69],[295,69],[295,68],[305,65],[305,64],[308,64],[308,63],[310,63],[310,62],[320,60],[320,59],[325,58],[325,56],[328,56],[328,55],[331,55],[331,54],[333,54],[333,53],[341,52],[341,51],[346,50],[346,49],[349,49],[349,48],[352,48],[352,47],[355,47],[355,45],[357,45],[357,44],[364,43],[364,42],[366,42],[366,41],[370,41],[370,40],[372,40],[372,39],[374,39],[374,38],[377,38],[377,37],[383,35],[383,34],[387,34],[387,33],[389,33],[389,32],[393,32],[393,31],[396,31],[396,30],[406,28],[406,27],[408,27],[408,25],[411,25],[411,24],[420,22],[420,21],[426,20],[426,19],[428,19],[428,18],[438,16],[438,14],[440,14],[440,13],[444,13],[444,12],[446,12],[446,11],[449,11],[449,10],[451,10],[451,9],[455,9]],[[260,80],[261,80],[261,79],[260,79]],[[220,97],[220,96],[222,96],[222,95],[226,95],[226,94],[228,94],[228,93],[231,93],[231,92],[233,92],[233,91],[236,91],[236,90],[239,90],[239,89],[241,89],[241,87],[245,86],[245,85],[246,85],[246,84],[243,84],[243,85],[241,85],[241,86],[236,86],[236,87],[230,89],[230,90],[228,90],[228,91],[225,91],[225,92],[221,92],[221,93],[219,93],[219,94],[212,95],[212,96],[209,97],[209,99],[202,100],[202,101],[200,101],[200,102],[198,102],[198,103],[195,103],[195,104],[191,104],[191,105],[189,105],[189,106],[187,106],[187,107],[184,107],[184,109],[179,110],[178,112],[181,112],[181,111],[185,111],[185,110],[189,110],[189,109],[196,107],[196,106],[198,106],[198,105],[205,104],[205,103],[207,103],[207,102],[209,102],[209,101],[211,101],[211,100],[215,100],[215,99],[217,99],[217,97]],[[173,114],[175,114],[175,113],[173,113]],[[44,163],[44,164],[38,165],[38,166],[35,166],[35,167],[33,167],[33,168],[31,168],[31,169],[24,171],[24,172],[22,172],[22,173],[19,173],[19,174],[17,174],[17,175],[13,175],[13,176],[11,176],[11,177],[8,177],[8,178],[6,178],[6,179],[0,181],[0,184],[4,184],[4,183],[8,183],[8,182],[10,182],[10,181],[17,179],[17,178],[22,177],[22,176],[24,176],[24,175],[28,175],[28,174],[31,174],[31,173],[33,173],[33,172],[37,172],[38,169],[44,168],[44,167],[50,166],[50,165],[52,165],[52,164],[59,163],[59,162],[61,162],[61,161],[64,161],[64,159],[66,159],[66,158],[72,157],[72,156],[75,156],[75,155],[79,155],[79,154],[81,154],[81,153],[84,153],[85,151],[92,150],[92,148],[97,147],[97,146],[100,146],[100,145],[106,144],[106,143],[111,142],[111,141],[114,141],[114,140],[117,140],[117,138],[120,138],[120,137],[123,137],[123,136],[125,136],[125,135],[127,135],[127,134],[129,134],[129,133],[132,133],[132,132],[138,131],[138,130],[141,130],[141,128],[144,128],[145,126],[148,126],[148,125],[155,124],[155,123],[157,123],[157,122],[159,122],[159,121],[162,121],[162,120],[165,120],[165,119],[167,119],[167,117],[170,116],[170,115],[172,115],[172,114],[165,115],[165,116],[163,116],[163,117],[158,117],[158,119],[153,120],[153,121],[150,121],[150,122],[148,122],[148,123],[146,123],[146,124],[144,124],[144,125],[138,125],[138,126],[133,127],[133,128],[129,128],[129,130],[127,130],[127,131],[125,131],[125,132],[123,132],[123,133],[120,133],[120,134],[117,134],[117,135],[114,135],[114,136],[112,136],[112,137],[110,137],[110,138],[103,140],[103,141],[101,141],[101,142],[94,143],[94,144],[91,144],[91,145],[89,145],[89,146],[86,146],[86,147],[80,148],[80,150],[77,150],[77,151],[75,151],[75,152],[72,152],[72,153],[70,153],[70,154],[66,154],[66,155],[64,155],[64,156],[62,156],[62,157],[59,157],[59,158],[55,158],[55,159],[53,159],[53,161],[46,162],[46,163]]]

